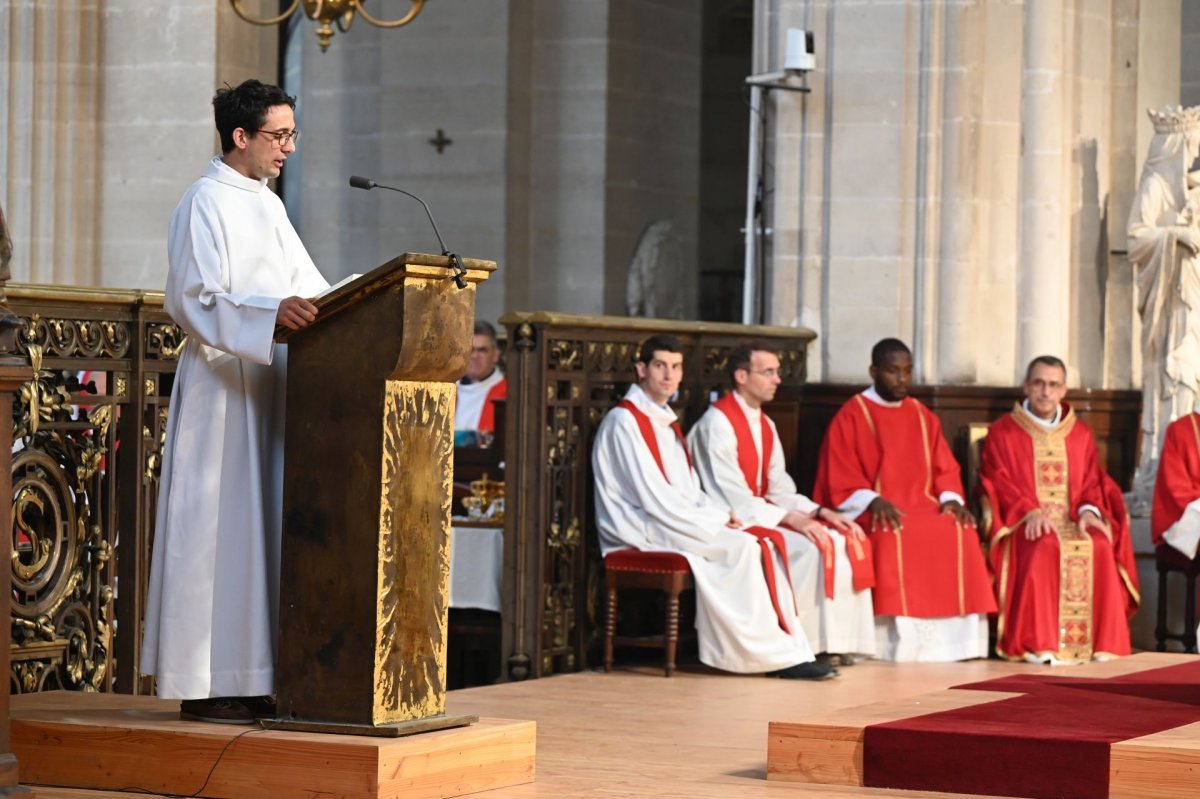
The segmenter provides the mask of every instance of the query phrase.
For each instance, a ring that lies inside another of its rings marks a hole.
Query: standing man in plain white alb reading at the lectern
[[[187,332],[167,421],[142,671],[184,719],[271,714],[283,501],[284,347],[328,288],[266,187],[295,152],[295,98],[212,98],[223,154],[175,208],[164,304]]]

